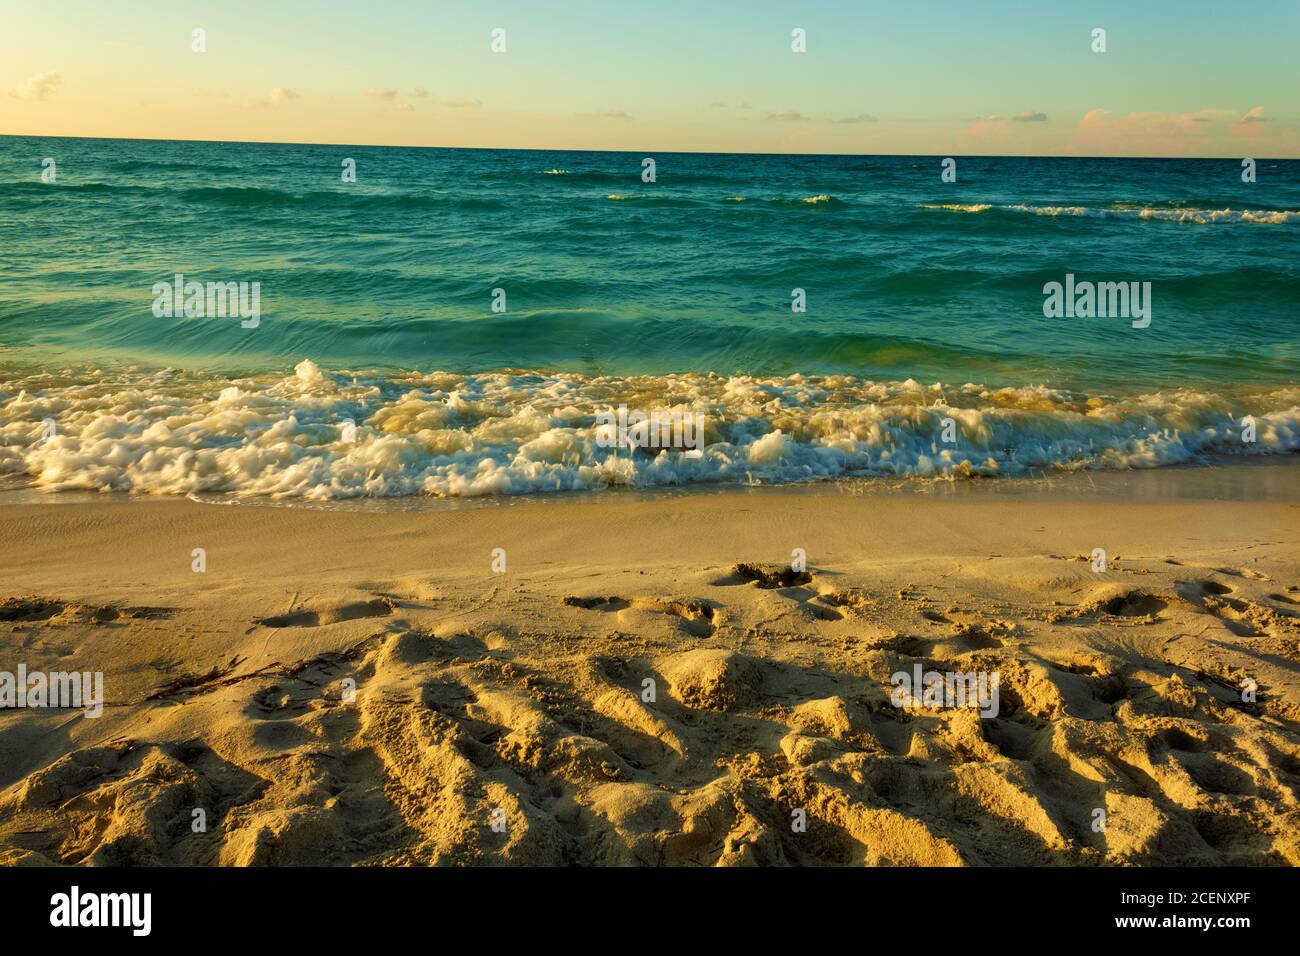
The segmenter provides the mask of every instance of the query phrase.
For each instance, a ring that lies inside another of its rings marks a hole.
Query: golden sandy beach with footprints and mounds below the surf
[[[1295,477],[9,503],[0,862],[1295,865]]]

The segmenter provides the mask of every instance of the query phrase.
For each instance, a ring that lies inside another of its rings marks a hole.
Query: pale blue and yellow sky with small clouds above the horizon
[[[0,0],[0,134],[1300,157],[1300,0]]]

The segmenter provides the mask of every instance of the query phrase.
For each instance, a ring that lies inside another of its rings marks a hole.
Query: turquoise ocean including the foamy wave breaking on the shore
[[[0,476],[339,499],[1300,449],[1300,161],[942,159],[0,137]],[[160,315],[177,274],[256,284],[256,320]],[[1048,316],[1052,282],[1145,315]],[[620,406],[702,415],[698,453],[611,446]]]

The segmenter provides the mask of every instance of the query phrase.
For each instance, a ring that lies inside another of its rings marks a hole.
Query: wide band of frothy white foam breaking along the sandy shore
[[[598,441],[620,402],[703,414],[701,458]],[[1257,441],[1242,441],[1242,418]],[[42,440],[43,420],[57,429]],[[944,419],[956,442],[944,444]],[[355,423],[347,441],[346,423]],[[1022,476],[1300,450],[1300,388],[1131,397],[849,376],[31,376],[0,385],[0,473],[39,488],[313,499],[855,475]]]

